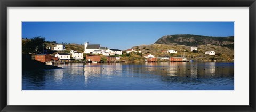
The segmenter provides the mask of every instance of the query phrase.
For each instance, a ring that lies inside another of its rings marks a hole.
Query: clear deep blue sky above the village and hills
[[[234,22],[22,22],[22,38],[129,49],[164,35],[234,36]]]

